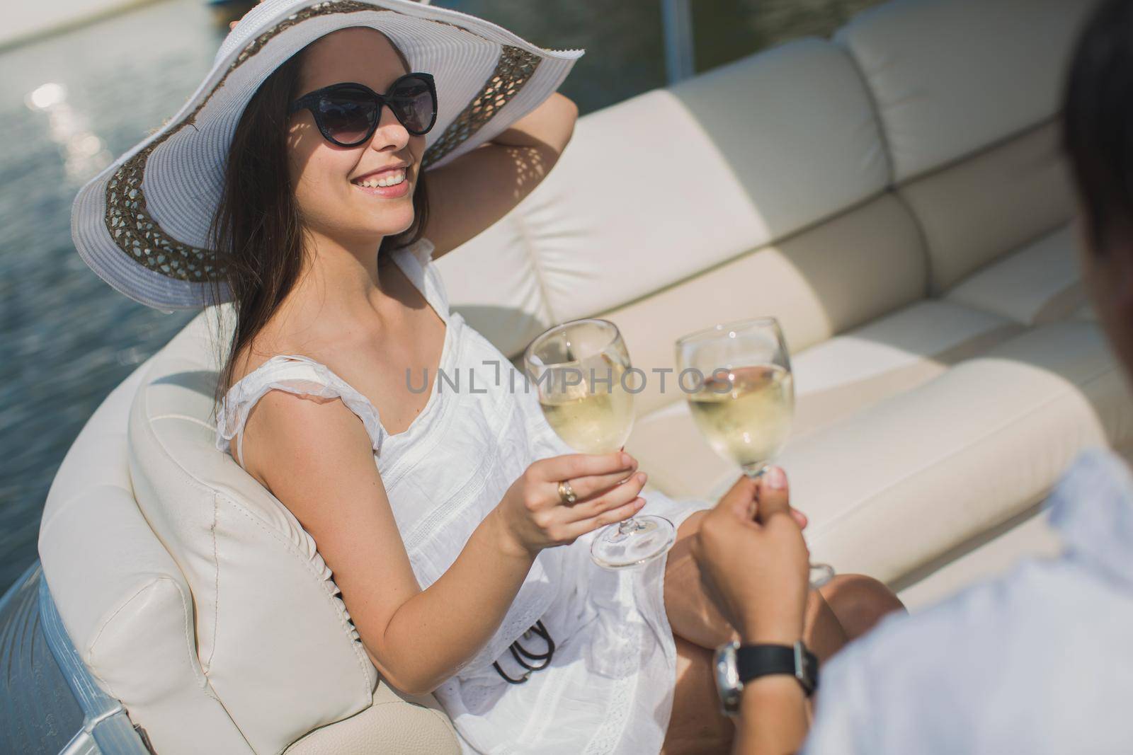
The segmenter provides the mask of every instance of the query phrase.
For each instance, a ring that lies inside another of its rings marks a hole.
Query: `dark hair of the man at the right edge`
[[[1133,0],[1106,0],[1079,37],[1066,81],[1070,155],[1094,254],[1133,241]]]

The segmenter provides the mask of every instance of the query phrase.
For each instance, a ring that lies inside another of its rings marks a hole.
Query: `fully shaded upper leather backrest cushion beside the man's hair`
[[[869,85],[905,181],[1050,119],[1096,0],[895,0],[836,40]]]

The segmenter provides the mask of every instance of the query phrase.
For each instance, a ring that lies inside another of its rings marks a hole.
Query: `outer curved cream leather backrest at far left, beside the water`
[[[152,366],[111,392],[56,473],[43,575],[79,658],[159,753],[250,753],[201,670],[185,576],[134,500],[127,418]]]

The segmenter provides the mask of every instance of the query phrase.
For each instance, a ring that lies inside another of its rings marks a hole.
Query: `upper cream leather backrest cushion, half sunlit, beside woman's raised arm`
[[[841,213],[888,174],[847,54],[803,40],[579,119],[547,178],[438,264],[454,308],[513,355],[552,321]]]

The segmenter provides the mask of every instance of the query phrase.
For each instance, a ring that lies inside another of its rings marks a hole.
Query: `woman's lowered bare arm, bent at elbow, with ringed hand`
[[[484,646],[540,548],[620,522],[644,503],[628,454],[542,460],[423,591],[369,437],[341,401],[270,391],[248,418],[244,457],[315,539],[383,678],[410,694],[432,692]],[[559,505],[553,479],[570,479],[590,498]]]

